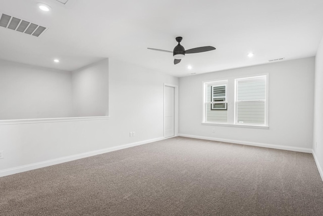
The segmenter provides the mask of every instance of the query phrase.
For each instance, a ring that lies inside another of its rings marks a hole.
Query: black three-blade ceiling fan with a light
[[[202,53],[207,52],[211,50],[215,50],[216,48],[211,46],[206,47],[197,47],[189,50],[185,50],[182,45],[180,45],[180,42],[182,41],[183,37],[176,37],[176,41],[178,42],[178,45],[174,48],[174,51],[167,51],[167,50],[159,50],[159,49],[153,49],[153,48],[147,48],[149,50],[155,50],[155,51],[161,51],[161,52],[167,52],[167,53],[173,53],[174,56],[174,64],[178,64],[181,62],[181,59],[185,57],[185,54],[190,53]]]

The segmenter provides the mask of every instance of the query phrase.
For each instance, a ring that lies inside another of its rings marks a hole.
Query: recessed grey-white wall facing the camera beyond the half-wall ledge
[[[71,73],[0,60],[0,120],[68,117]]]

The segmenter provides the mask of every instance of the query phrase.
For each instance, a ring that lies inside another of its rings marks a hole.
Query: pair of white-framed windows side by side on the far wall
[[[204,82],[204,123],[267,126],[268,75]]]

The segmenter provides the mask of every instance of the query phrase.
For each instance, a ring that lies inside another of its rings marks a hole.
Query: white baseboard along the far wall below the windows
[[[293,147],[293,146],[271,145],[271,144],[265,144],[265,143],[254,143],[254,142],[240,141],[240,140],[228,140],[228,139],[213,138],[213,137],[202,137],[202,136],[195,136],[195,135],[188,135],[188,134],[178,134],[178,136],[201,139],[201,140],[212,140],[212,141],[218,141],[218,142],[224,142],[224,143],[242,144],[242,145],[248,145],[248,146],[258,146],[258,147],[271,148],[271,149],[281,149],[281,150],[288,150],[288,151],[312,153],[312,149],[299,148],[299,147]]]

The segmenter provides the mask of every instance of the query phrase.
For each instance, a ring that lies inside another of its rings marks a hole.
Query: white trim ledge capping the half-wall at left
[[[62,121],[87,121],[87,120],[102,120],[102,119],[109,119],[109,116],[0,120],[0,125],[2,125],[2,124],[30,124],[30,123],[62,122]]]

